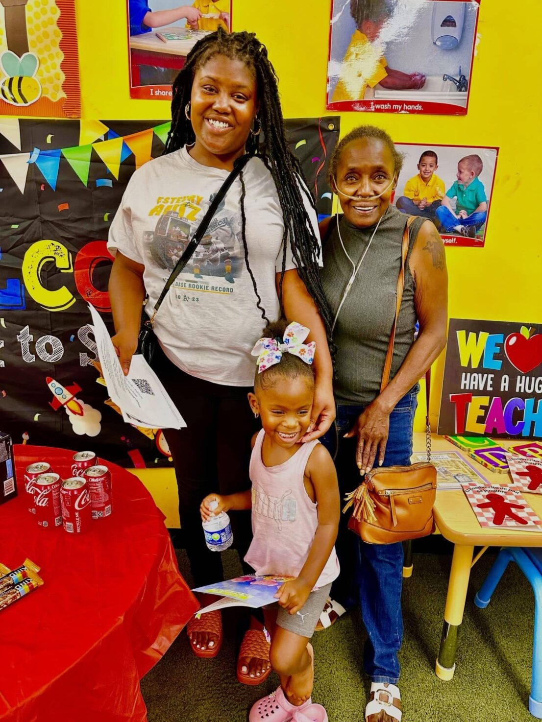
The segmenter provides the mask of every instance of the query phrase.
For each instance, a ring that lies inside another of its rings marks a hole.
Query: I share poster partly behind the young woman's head
[[[197,41],[218,27],[231,30],[231,6],[232,0],[126,0],[130,97],[171,101],[171,84]]]

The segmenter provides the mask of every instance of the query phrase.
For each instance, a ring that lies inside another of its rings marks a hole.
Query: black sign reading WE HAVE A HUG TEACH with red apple
[[[437,433],[542,438],[542,324],[450,319]]]

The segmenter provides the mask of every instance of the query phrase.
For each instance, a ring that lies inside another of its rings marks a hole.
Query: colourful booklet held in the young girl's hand
[[[207,584],[207,586],[197,587],[192,591],[201,591],[207,594],[215,594],[223,599],[198,609],[196,616],[213,612],[215,609],[224,609],[226,606],[250,606],[257,609],[265,604],[274,604],[275,594],[285,582],[293,579],[293,577],[279,577],[275,575],[264,575],[257,577],[255,574],[246,574],[243,577],[228,579],[225,582],[216,584]]]

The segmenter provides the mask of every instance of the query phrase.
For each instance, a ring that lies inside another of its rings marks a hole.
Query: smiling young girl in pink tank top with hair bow
[[[286,722],[303,710],[307,720],[327,720],[311,704],[314,680],[309,643],[333,580],[339,574],[335,538],[340,503],[332,458],[318,440],[302,443],[314,400],[314,342],[299,323],[271,323],[252,350],[257,355],[249,403],[262,430],[252,438],[252,489],[228,496],[210,494],[202,518],[230,509],[252,510],[254,539],[245,561],[257,575],[287,575],[277,604],[264,609],[271,635],[270,662],[280,686],[251,709],[249,721]],[[302,718],[300,716],[300,718]]]

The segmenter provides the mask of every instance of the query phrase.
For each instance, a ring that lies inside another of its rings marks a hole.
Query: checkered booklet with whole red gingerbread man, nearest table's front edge
[[[530,508],[520,490],[496,484],[484,485],[469,482],[462,484],[468,503],[481,527],[514,529],[515,531],[542,531],[542,521]]]

